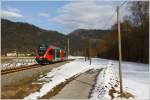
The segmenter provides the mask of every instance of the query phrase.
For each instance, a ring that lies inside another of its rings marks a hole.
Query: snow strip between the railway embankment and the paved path
[[[55,86],[59,85],[62,82],[65,82],[66,79],[79,75],[90,69],[101,69],[103,67],[106,67],[106,65],[101,64],[101,60],[97,58],[92,59],[92,65],[89,64],[89,61],[85,62],[84,59],[76,59],[71,63],[67,63],[58,68],[54,68],[51,72],[47,73],[45,77],[39,79],[39,81],[50,81],[43,84],[39,92],[31,93],[24,99],[38,99],[46,95]]]

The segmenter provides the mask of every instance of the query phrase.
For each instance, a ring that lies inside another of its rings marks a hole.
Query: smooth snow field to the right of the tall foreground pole
[[[150,100],[149,65],[133,62],[123,63],[123,85],[135,100]]]

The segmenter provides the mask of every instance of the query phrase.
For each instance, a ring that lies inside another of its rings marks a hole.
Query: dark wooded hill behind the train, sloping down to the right
[[[28,23],[1,20],[2,54],[17,50],[32,52],[41,43],[63,47],[66,36],[51,30],[43,30]]]

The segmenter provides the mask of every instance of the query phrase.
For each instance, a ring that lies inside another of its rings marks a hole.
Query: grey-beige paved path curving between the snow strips
[[[90,70],[81,74],[50,99],[88,99],[98,73]]]

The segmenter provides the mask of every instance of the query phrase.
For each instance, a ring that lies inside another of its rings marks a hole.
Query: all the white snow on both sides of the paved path
[[[70,57],[71,58],[71,57]],[[54,68],[46,76],[41,77],[37,84],[42,84],[39,91],[31,93],[24,99],[38,99],[52,91],[54,87],[65,82],[74,76],[84,73],[90,69],[103,70],[97,77],[97,84],[92,90],[91,99],[110,99],[109,90],[112,87],[119,89],[118,82],[118,62],[107,59],[92,58],[92,64],[89,61],[84,61],[83,57],[72,57],[76,60]],[[149,65],[123,62],[123,86],[124,91],[134,95],[134,99],[143,100],[149,99]],[[119,91],[119,90],[118,90]],[[117,94],[116,94],[117,96]],[[116,99],[116,98],[115,98]],[[118,98],[117,98],[118,99]],[[133,99],[133,98],[130,98]]]

